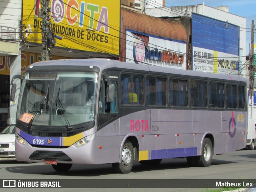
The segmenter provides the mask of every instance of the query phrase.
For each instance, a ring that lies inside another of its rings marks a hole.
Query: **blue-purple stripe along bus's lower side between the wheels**
[[[176,157],[196,156],[197,147],[178,148],[178,149],[160,149],[151,151],[151,159],[164,159]]]

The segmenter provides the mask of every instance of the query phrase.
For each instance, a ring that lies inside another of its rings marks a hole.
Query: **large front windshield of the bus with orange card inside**
[[[70,126],[94,119],[95,72],[27,72],[17,118],[37,126]]]

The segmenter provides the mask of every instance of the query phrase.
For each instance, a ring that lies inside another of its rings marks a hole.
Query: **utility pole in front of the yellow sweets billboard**
[[[41,1],[42,15],[42,61],[50,60],[50,47],[48,46],[48,32],[50,31],[49,0]]]

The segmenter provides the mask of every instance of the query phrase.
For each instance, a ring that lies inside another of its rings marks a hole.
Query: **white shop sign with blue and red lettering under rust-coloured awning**
[[[186,69],[186,63],[184,63],[186,62],[186,43],[149,36],[147,44],[148,46],[142,38],[127,32],[126,62]]]

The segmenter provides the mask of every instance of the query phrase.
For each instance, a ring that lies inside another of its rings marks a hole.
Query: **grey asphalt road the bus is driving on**
[[[256,179],[256,150],[240,150],[219,156],[213,156],[210,167],[189,167],[186,158],[184,159],[168,159],[162,160],[158,166],[148,166],[135,163],[129,174],[116,174],[110,164],[100,165],[73,165],[68,172],[56,172],[51,165],[43,163],[26,164],[17,162],[15,159],[0,159],[0,179],[2,180],[58,180],[68,179],[68,181],[80,180],[86,182],[88,179],[122,179],[122,180],[138,180],[144,179],[213,179],[213,180],[247,180]],[[72,179],[72,180],[71,180]],[[184,181],[188,181],[184,180]],[[92,180],[93,181],[93,180]],[[100,186],[99,180],[99,186]],[[71,182],[70,182],[71,183]],[[152,184],[151,184],[152,185]],[[47,189],[47,191],[122,191],[122,192],[170,192],[170,191],[205,191],[205,188],[188,188],[188,184],[181,184],[180,188],[55,188]],[[31,188],[10,189],[8,191],[35,191]],[[1,191],[1,188],[0,188]],[[6,191],[6,190],[3,190]],[[46,189],[38,188],[36,191],[46,191]]]

